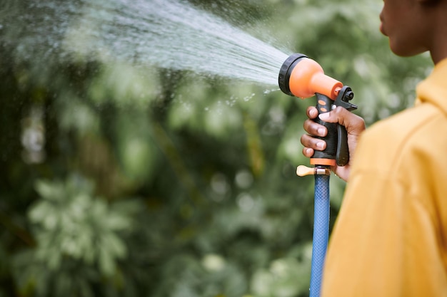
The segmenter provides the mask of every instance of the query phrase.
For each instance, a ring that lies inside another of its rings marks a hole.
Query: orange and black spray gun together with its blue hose
[[[324,74],[323,68],[302,53],[294,53],[284,61],[278,75],[279,88],[287,95],[298,98],[316,96],[318,115],[328,113],[341,106],[347,110],[356,110],[357,106],[349,103],[354,93],[347,85]],[[348,133],[343,125],[325,123],[318,117],[316,123],[326,127],[325,137],[318,137],[326,142],[326,149],[315,151],[311,157],[313,168],[298,166],[298,176],[315,175],[313,243],[311,264],[310,296],[318,297],[321,291],[324,259],[329,238],[329,177],[331,166],[344,166],[349,162]]]

